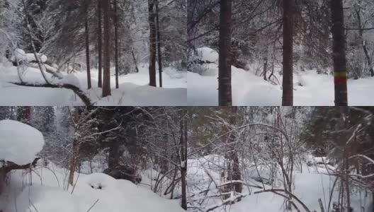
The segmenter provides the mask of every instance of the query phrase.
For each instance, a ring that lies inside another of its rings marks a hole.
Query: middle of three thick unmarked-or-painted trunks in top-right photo
[[[282,105],[293,105],[293,0],[283,0]]]

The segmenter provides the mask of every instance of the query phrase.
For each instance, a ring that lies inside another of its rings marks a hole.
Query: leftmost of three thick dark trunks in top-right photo
[[[220,4],[220,54],[218,66],[218,105],[231,106],[231,25],[232,0]]]

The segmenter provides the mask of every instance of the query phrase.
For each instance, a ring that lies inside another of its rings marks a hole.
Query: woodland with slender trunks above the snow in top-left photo
[[[184,1],[4,0],[0,55],[16,66],[28,61],[12,56],[38,55],[33,66],[57,78],[62,78],[60,71],[86,71],[87,88],[92,87],[90,68],[98,69],[98,87],[106,97],[111,95],[111,67],[115,88],[119,75],[138,72],[142,63],[149,64],[149,86],[162,87],[162,77],[156,83],[156,70],[162,76],[162,67],[184,71],[185,26]]]

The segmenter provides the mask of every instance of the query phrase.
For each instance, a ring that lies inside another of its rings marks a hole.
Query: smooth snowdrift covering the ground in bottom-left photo
[[[91,211],[183,211],[179,200],[162,198],[150,190],[148,184],[152,176],[157,176],[155,170],[143,172],[142,182],[138,185],[103,173],[76,172],[74,186],[66,189],[68,174],[68,170],[53,163],[38,165],[33,172],[11,172],[4,194],[0,196],[0,210],[27,211],[31,202],[30,212],[81,212],[89,210],[98,200]]]

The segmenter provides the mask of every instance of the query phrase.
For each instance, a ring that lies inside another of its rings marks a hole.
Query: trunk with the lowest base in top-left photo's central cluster
[[[109,25],[109,2],[104,0],[104,70],[103,70],[103,97],[111,95],[111,28]]]

